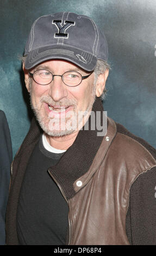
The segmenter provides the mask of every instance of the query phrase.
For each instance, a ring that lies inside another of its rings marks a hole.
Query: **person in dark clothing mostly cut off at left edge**
[[[8,121],[2,110],[0,110],[0,142],[0,245],[4,245],[5,211],[9,194],[10,164],[13,156]]]

